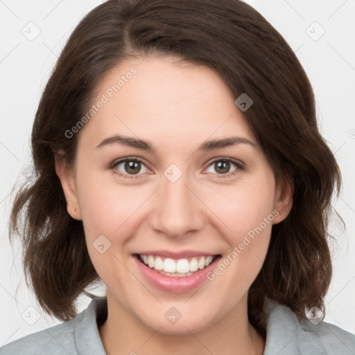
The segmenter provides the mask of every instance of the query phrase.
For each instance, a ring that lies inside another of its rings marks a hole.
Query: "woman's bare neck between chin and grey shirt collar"
[[[107,320],[99,333],[107,355],[262,355],[265,339],[248,321],[247,297],[227,317],[197,332],[162,334],[129,313],[107,294]]]

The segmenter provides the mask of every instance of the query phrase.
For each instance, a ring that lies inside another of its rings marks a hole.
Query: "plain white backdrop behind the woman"
[[[0,346],[59,322],[44,315],[26,288],[21,246],[8,241],[10,192],[31,173],[33,118],[53,65],[78,21],[101,2],[0,1]],[[346,230],[332,227],[337,243],[324,320],[355,334],[355,0],[246,2],[297,54],[313,85],[320,130],[343,172],[335,207]],[[79,309],[88,302],[82,297]]]

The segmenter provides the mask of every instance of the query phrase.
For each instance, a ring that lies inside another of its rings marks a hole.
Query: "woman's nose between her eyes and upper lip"
[[[162,187],[155,193],[155,208],[150,214],[153,230],[181,238],[202,229],[205,209],[191,185],[184,174],[175,182],[162,177]]]

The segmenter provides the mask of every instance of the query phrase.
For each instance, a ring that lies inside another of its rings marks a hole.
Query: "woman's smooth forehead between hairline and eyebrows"
[[[171,57],[126,60],[96,88],[96,110],[80,140],[96,146],[119,134],[147,139],[154,148],[163,144],[176,149],[219,137],[253,139],[234,101],[227,85],[208,67]]]

